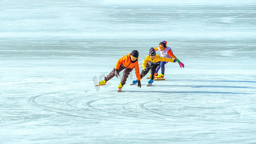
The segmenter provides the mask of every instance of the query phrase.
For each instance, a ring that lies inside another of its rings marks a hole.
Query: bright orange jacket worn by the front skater
[[[133,69],[135,68],[135,74],[137,77],[137,80],[140,81],[140,70],[139,70],[139,62],[138,59],[133,63],[130,59],[131,53],[129,53],[126,56],[123,56],[121,59],[119,59],[116,63],[115,69],[119,69],[120,65],[123,64],[126,68]]]

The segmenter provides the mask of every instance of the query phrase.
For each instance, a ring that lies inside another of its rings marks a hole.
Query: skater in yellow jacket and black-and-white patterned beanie
[[[159,55],[156,54],[156,50],[154,48],[150,48],[148,56],[146,56],[145,60],[142,63],[143,70],[140,73],[140,78],[142,79],[149,72],[149,70],[151,70],[151,76],[150,76],[150,80],[148,81],[148,84],[152,84],[155,78],[154,76],[155,70],[161,61],[176,62],[175,59],[160,57]],[[138,83],[138,80],[133,81],[133,84],[137,84],[137,83]]]

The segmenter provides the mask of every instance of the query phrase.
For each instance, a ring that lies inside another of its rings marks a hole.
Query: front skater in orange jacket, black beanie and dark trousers
[[[135,68],[135,74],[138,81],[138,87],[141,87],[140,83],[140,70],[139,70],[139,63],[138,63],[139,52],[137,50],[133,50],[126,56],[123,56],[119,59],[116,63],[116,67],[109,75],[105,76],[104,80],[99,82],[99,85],[106,84],[111,78],[116,76],[118,78],[119,72],[123,71],[121,83],[118,85],[119,89],[122,89],[123,85],[125,84],[130,72],[133,71]]]

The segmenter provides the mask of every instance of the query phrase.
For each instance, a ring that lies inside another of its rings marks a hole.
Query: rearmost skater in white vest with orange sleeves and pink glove
[[[155,50],[159,50],[159,52],[161,54],[161,57],[163,57],[163,58],[176,59],[177,62],[179,63],[179,65],[180,65],[180,67],[184,68],[184,64],[173,55],[173,52],[172,52],[171,48],[167,47],[166,45],[167,45],[167,41],[161,41],[159,43],[159,47],[155,48]],[[164,77],[164,70],[165,70],[165,66],[164,65],[166,63],[168,63],[168,61],[161,61],[159,66],[157,67],[156,72],[155,72],[155,76],[158,79]],[[158,71],[159,71],[160,68],[161,68],[161,73],[158,74]]]

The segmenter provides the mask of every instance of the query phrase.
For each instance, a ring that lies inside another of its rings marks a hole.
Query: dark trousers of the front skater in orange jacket
[[[133,69],[129,69],[123,66],[123,64],[120,65],[118,73],[121,72],[124,69],[123,73],[122,73],[122,80],[121,80],[121,84],[124,85],[127,78],[129,77],[130,72],[133,71]],[[113,69],[112,72],[110,72],[109,75],[105,76],[104,80],[107,82],[109,81],[111,78],[113,78],[115,76],[115,68]]]

